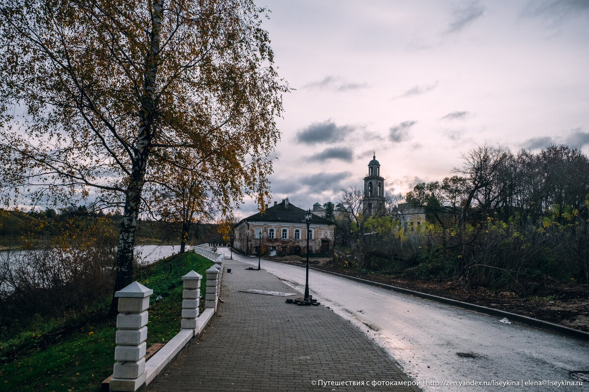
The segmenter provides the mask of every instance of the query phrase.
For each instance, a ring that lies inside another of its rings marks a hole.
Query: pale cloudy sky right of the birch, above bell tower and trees
[[[254,1],[294,89],[273,201],[336,202],[373,153],[393,194],[451,176],[485,143],[589,154],[589,0]]]

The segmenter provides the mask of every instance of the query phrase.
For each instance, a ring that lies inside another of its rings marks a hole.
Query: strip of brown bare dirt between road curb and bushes
[[[292,264],[305,263],[305,259],[299,256],[272,259]],[[313,258],[309,264],[319,269],[523,314],[534,319],[589,332],[589,284],[565,283],[549,277],[540,277],[534,280],[522,280],[517,291],[500,291],[473,287],[462,280],[423,280],[386,274],[367,274],[335,267],[329,261],[330,259],[327,258]]]

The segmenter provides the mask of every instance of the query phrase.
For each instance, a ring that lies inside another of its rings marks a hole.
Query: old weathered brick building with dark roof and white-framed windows
[[[323,217],[312,215],[309,225],[309,252],[331,254],[335,225]],[[289,199],[274,202],[264,213],[242,219],[233,229],[233,247],[246,254],[270,256],[307,253],[307,224],[305,210],[292,205]],[[261,237],[260,237],[261,236]]]

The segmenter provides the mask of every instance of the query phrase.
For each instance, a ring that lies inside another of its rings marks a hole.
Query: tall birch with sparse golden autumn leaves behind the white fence
[[[250,0],[14,0],[0,6],[0,196],[123,208],[131,282],[148,183],[190,149],[228,208],[268,199],[286,83]]]

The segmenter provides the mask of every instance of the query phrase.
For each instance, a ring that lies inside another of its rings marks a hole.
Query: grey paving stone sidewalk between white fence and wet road
[[[217,315],[146,391],[419,391],[391,386],[411,379],[348,321],[324,306],[240,292],[295,290],[239,260],[223,264],[231,273]]]

